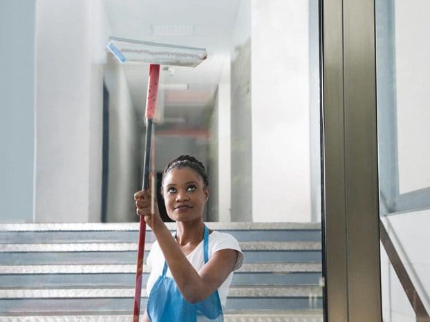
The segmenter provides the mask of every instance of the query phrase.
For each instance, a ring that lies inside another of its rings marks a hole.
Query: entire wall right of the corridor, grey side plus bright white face
[[[308,1],[241,1],[230,77],[233,221],[320,220],[317,26]]]

